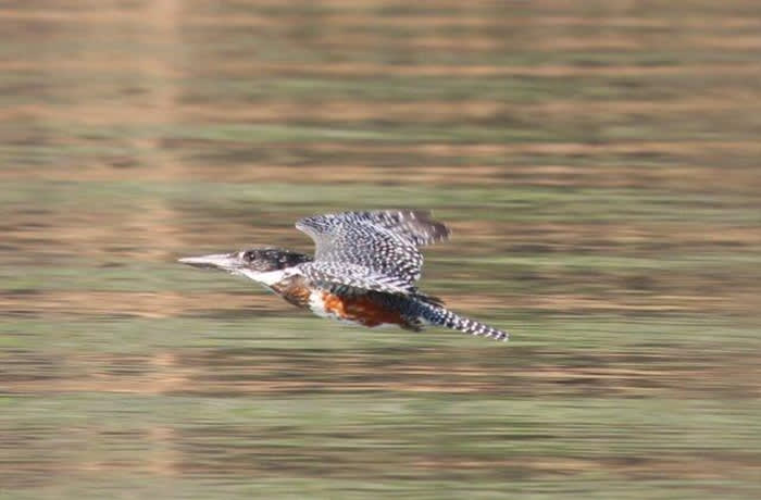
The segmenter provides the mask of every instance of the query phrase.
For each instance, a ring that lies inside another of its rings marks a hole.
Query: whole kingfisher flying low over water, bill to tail
[[[449,237],[423,211],[344,212],[302,218],[296,227],[315,254],[263,248],[179,261],[246,276],[317,316],[365,327],[442,326],[507,340],[507,332],[460,316],[417,290],[420,247]]]

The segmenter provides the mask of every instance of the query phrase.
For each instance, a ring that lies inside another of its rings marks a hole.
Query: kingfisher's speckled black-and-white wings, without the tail
[[[317,282],[391,293],[413,293],[423,255],[419,247],[449,236],[426,211],[344,212],[302,218],[314,262],[302,265]]]

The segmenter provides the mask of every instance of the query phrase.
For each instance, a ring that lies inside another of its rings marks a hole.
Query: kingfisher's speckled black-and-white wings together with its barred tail
[[[442,326],[507,340],[508,333],[460,316],[417,291],[423,255],[419,248],[446,240],[450,230],[424,211],[345,212],[296,223],[315,242],[314,261],[299,265],[321,287],[342,293],[374,293],[402,312],[408,326]],[[377,292],[377,293],[376,293]]]

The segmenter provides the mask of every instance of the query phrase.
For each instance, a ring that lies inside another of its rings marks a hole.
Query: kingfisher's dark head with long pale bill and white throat
[[[232,253],[188,257],[178,262],[194,267],[226,271],[271,285],[283,277],[284,270],[311,260],[303,253],[279,248],[252,248]]]

